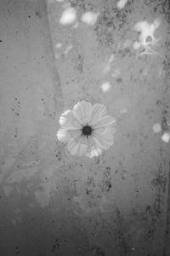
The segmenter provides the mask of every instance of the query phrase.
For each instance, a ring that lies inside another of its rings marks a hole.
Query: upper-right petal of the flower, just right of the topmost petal
[[[91,119],[89,120],[89,125],[95,125],[101,117],[103,117],[107,113],[107,109],[103,104],[96,103],[92,107],[92,115]]]

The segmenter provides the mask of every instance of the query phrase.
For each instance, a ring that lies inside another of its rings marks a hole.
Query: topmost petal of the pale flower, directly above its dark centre
[[[82,124],[86,125],[91,118],[92,105],[90,102],[78,102],[73,108],[73,116]]]

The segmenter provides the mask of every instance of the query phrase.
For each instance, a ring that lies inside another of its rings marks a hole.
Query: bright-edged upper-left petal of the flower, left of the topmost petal
[[[66,110],[65,113],[60,116],[59,124],[61,125],[61,128],[66,130],[77,130],[82,127],[82,125],[80,125],[80,123],[73,117],[71,110]]]

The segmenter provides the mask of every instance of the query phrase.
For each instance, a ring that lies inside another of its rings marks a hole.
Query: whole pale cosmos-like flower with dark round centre
[[[77,102],[73,110],[66,110],[60,116],[57,138],[67,143],[71,155],[98,156],[114,143],[116,120],[106,113],[103,104],[92,106],[90,102]]]

